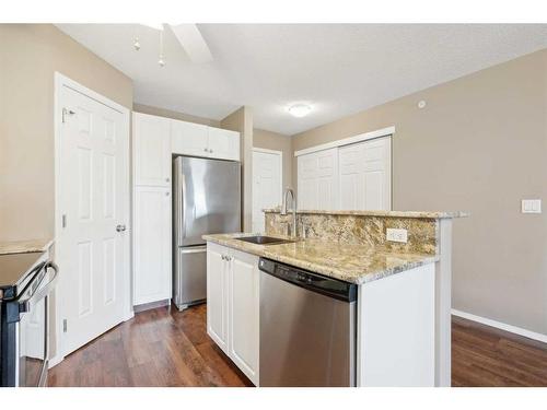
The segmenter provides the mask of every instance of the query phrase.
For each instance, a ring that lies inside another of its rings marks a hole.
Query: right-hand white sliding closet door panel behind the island
[[[339,200],[342,210],[391,210],[391,137],[339,149]]]

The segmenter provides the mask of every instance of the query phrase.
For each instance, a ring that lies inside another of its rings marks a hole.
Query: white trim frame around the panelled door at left
[[[55,153],[55,229],[54,229],[54,236],[55,236],[55,246],[56,250],[59,246],[60,241],[59,239],[59,233],[61,230],[61,213],[62,210],[58,208],[58,204],[61,202],[60,201],[60,166],[59,166],[59,160],[60,160],[60,137],[61,137],[61,119],[62,116],[60,115],[62,107],[61,107],[61,102],[60,102],[60,95],[62,87],[67,86],[68,89],[75,91],[78,93],[81,93],[92,99],[95,99],[96,102],[106,105],[109,108],[113,108],[120,113],[124,116],[124,125],[123,125],[123,133],[127,136],[127,145],[128,145],[128,151],[127,151],[127,164],[128,164],[128,176],[129,176],[129,186],[128,192],[131,191],[130,188],[130,180],[131,180],[131,168],[130,168],[130,153],[129,153],[129,147],[131,144],[130,140],[130,117],[131,117],[131,112],[129,108],[115,103],[114,101],[96,93],[93,90],[88,89],[86,86],[69,79],[68,77],[61,74],[60,72],[56,71],[54,73],[54,153]],[[131,208],[130,208],[130,194],[128,195],[127,198],[127,203],[126,203],[126,215],[128,219],[127,224],[129,225],[129,234],[132,234],[131,230]],[[130,246],[130,235],[126,235],[125,242],[124,242],[124,248],[125,248],[125,254],[127,255],[127,276],[125,278],[125,288],[127,288],[127,303],[125,304],[125,312],[124,312],[124,319],[128,320],[131,317],[133,317],[133,309],[132,309],[132,301],[131,301],[131,246]],[[56,255],[58,253],[56,251]],[[60,363],[65,359],[65,352],[62,350],[62,320],[60,318],[62,317],[62,306],[61,302],[62,297],[60,297],[60,292],[56,291],[56,303],[55,303],[55,321],[57,326],[57,331],[56,331],[56,355],[51,359],[50,361],[50,367],[55,366],[56,364]]]

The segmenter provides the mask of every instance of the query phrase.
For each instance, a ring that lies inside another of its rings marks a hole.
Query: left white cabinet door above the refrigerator
[[[171,121],[171,150],[174,154],[209,156],[207,134],[209,127],[200,124]]]

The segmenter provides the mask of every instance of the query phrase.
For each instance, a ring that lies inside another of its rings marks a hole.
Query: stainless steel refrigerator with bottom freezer
[[[207,247],[201,236],[241,231],[241,165],[177,156],[173,192],[173,302],[184,309],[207,297]]]

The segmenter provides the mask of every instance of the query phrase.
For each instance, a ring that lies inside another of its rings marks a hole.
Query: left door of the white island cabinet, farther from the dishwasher
[[[207,335],[228,354],[228,248],[207,244]]]

